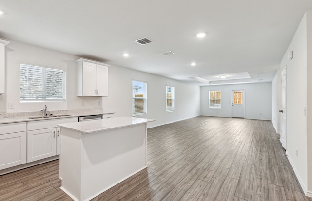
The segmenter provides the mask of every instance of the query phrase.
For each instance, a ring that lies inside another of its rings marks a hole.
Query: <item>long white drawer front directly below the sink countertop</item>
[[[58,124],[78,122],[78,117],[47,119],[27,123],[27,130],[39,130],[44,128],[55,128]]]

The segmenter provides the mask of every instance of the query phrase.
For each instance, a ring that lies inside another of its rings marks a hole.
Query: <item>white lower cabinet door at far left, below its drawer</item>
[[[26,132],[0,135],[0,170],[26,163]]]

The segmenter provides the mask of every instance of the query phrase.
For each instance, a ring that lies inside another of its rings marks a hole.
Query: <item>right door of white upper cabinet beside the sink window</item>
[[[97,95],[107,96],[108,95],[108,68],[97,64]]]

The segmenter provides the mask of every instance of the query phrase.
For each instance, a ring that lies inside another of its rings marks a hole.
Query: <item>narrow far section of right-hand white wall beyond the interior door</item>
[[[281,71],[278,70],[271,82],[272,85],[272,124],[276,133],[281,132],[281,121],[279,110],[281,109]]]

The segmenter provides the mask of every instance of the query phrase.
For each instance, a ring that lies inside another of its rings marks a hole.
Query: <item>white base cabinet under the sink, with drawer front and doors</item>
[[[59,155],[61,129],[57,124],[77,121],[73,117],[28,122],[27,163]]]

